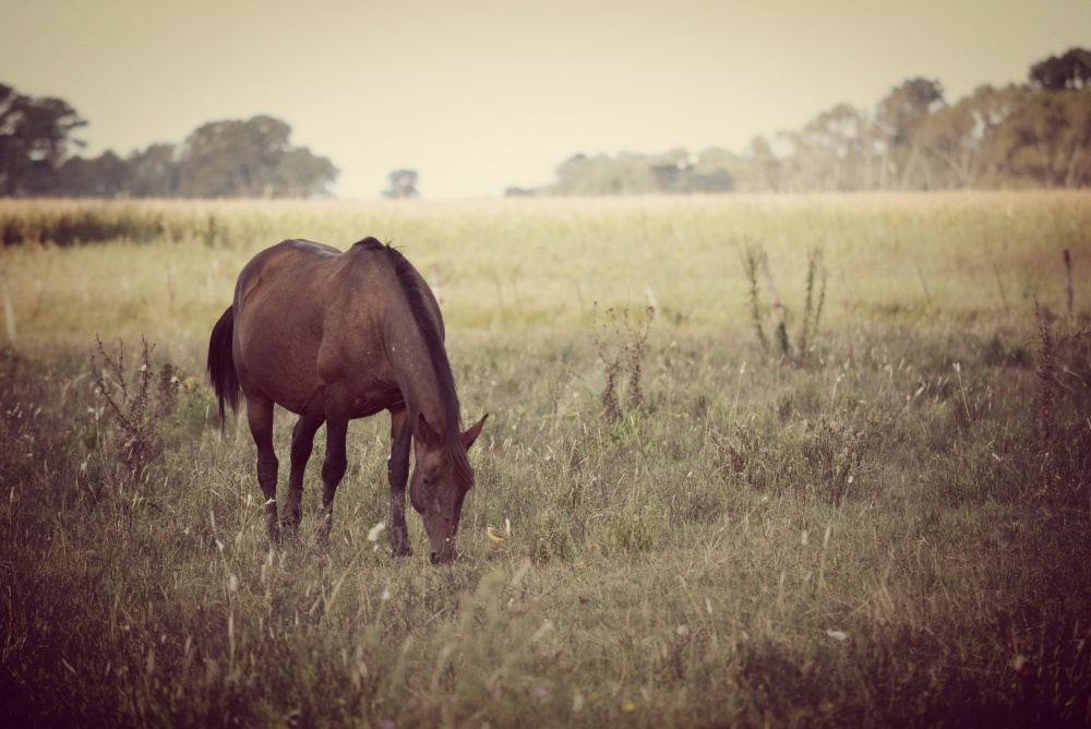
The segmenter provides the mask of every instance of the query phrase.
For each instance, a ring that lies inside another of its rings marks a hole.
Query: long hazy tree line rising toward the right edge
[[[837,104],[742,154],[576,155],[553,184],[508,195],[1086,188],[1091,186],[1091,51],[1034,63],[1027,81],[954,103],[910,79],[874,109]]]

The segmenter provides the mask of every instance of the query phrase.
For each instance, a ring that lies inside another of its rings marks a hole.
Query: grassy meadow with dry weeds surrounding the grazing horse
[[[379,534],[385,415],[328,552],[271,549],[204,372],[255,252],[368,235],[490,414],[451,566]],[[0,201],[0,237],[3,726],[1091,724],[1089,193]]]

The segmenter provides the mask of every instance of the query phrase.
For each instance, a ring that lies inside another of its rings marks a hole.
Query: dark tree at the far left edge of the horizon
[[[46,194],[74,130],[87,122],[59,98],[31,98],[0,84],[0,195]]]

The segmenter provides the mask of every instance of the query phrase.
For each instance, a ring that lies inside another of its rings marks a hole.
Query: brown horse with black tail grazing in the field
[[[461,431],[443,338],[440,307],[428,284],[400,252],[374,238],[344,253],[286,240],[245,265],[235,303],[212,331],[208,371],[221,421],[225,402],[237,411],[240,390],[247,397],[257,444],[257,482],[274,543],[280,535],[273,405],[299,415],[284,509],[284,527],[293,533],[314,433],[326,423],[320,546],[329,535],[334,493],[348,463],[348,421],[385,409],[391,413],[391,547],[395,554],[412,554],[405,507],[412,443],[409,500],[424,521],[432,563],[455,558],[463,500],[473,485],[466,452],[488,415]]]

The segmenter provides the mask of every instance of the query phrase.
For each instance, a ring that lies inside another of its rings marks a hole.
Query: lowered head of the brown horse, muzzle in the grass
[[[473,486],[473,470],[465,454],[481,433],[488,417],[482,417],[454,442],[448,442],[436,432],[424,420],[423,414],[418,418],[413,433],[416,465],[409,481],[409,501],[424,519],[424,530],[432,547],[432,564],[455,559],[455,535],[458,533],[458,517],[463,513],[463,500]],[[459,449],[460,454],[457,453]],[[456,459],[461,463],[454,463]]]

